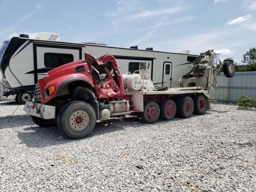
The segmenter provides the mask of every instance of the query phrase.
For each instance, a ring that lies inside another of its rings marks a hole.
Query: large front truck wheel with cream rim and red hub
[[[71,139],[84,138],[92,132],[95,124],[94,109],[83,101],[73,101],[63,106],[57,120],[62,134]]]

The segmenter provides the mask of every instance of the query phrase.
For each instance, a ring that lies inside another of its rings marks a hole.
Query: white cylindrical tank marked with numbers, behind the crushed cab
[[[139,74],[123,74],[124,88],[138,91],[142,88],[142,77]]]

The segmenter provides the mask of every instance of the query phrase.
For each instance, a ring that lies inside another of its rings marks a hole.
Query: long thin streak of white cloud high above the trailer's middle
[[[167,9],[153,10],[153,11],[145,10],[145,11],[142,11],[135,15],[128,16],[125,18],[125,20],[133,20],[133,19],[145,18],[145,17],[149,17],[149,16],[156,16],[156,15],[162,15],[162,14],[172,14],[172,13],[180,12],[182,10],[184,10],[184,9],[181,7],[172,7],[172,8],[167,8]]]

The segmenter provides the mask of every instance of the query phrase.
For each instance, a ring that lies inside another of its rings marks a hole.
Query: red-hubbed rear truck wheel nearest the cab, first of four
[[[148,101],[144,103],[144,112],[140,112],[142,120],[146,123],[153,123],[158,120],[160,107],[156,102]]]

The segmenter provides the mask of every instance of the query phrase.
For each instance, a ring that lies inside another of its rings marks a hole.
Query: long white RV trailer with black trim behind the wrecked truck
[[[192,67],[197,55],[184,53],[140,50],[136,48],[117,48],[106,44],[72,43],[59,41],[58,34],[40,33],[35,39],[28,35],[12,37],[4,41],[0,50],[0,82],[8,94],[17,94],[21,100],[28,100],[34,91],[38,79],[46,72],[62,64],[84,58],[84,52],[93,56],[111,54],[117,60],[122,73],[134,72],[139,63],[147,62],[150,66],[150,78],[155,85],[177,87],[182,74]],[[19,99],[19,101],[20,101]]]

